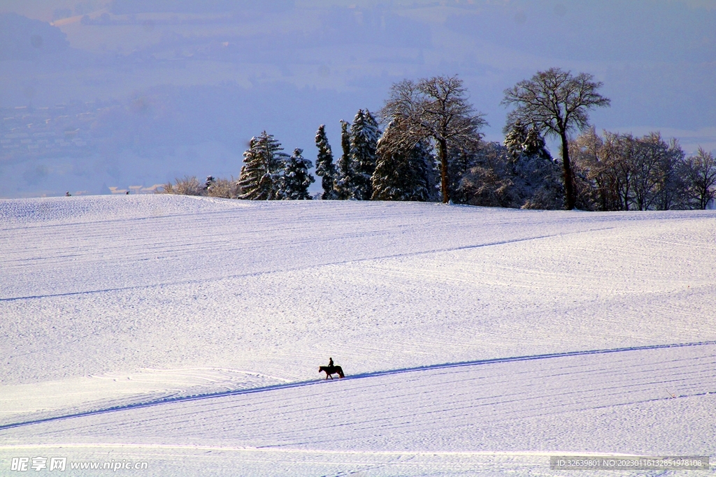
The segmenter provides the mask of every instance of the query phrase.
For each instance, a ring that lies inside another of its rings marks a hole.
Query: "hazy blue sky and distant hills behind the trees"
[[[313,160],[319,124],[337,152],[341,119],[436,75],[463,79],[502,141],[503,91],[551,67],[603,83],[597,130],[716,150],[716,1],[5,0],[0,15],[0,197],[236,177],[264,129]]]

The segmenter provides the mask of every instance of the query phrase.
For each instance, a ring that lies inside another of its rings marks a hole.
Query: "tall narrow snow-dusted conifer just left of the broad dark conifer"
[[[370,200],[373,195],[371,178],[375,170],[376,149],[380,131],[378,122],[366,109],[359,109],[351,126],[350,164],[354,171],[351,198]]]

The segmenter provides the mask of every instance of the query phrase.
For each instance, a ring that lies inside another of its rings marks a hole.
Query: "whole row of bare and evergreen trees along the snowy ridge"
[[[359,109],[353,122],[341,122],[338,159],[319,127],[316,198],[567,210],[708,207],[716,196],[713,154],[699,149],[686,157],[675,139],[657,132],[600,136],[589,111],[609,106],[601,86],[590,74],[553,68],[505,89],[503,104],[513,109],[500,144],[483,140],[484,114],[475,112],[458,77],[398,82],[377,115]],[[546,148],[547,136],[559,140],[558,159]],[[308,200],[315,178],[302,154],[285,154],[264,131],[243,153],[238,180],[208,177],[200,185],[185,178],[164,192]]]

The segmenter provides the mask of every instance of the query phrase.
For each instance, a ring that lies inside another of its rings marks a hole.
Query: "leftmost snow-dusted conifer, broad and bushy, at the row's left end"
[[[282,188],[284,167],[289,157],[274,136],[262,132],[252,137],[243,153],[243,166],[238,179],[239,199],[277,200]]]

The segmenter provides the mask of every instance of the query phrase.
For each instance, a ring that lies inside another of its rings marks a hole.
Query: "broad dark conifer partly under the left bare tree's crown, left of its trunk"
[[[400,144],[397,129],[391,122],[378,140],[372,200],[434,200],[437,174],[430,147],[423,141]]]

